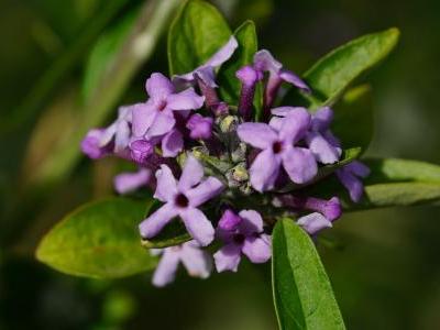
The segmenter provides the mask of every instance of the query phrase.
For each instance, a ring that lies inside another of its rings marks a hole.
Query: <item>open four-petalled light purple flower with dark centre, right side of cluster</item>
[[[310,125],[310,114],[305,109],[290,111],[279,131],[265,123],[243,123],[237,132],[239,138],[262,152],[250,168],[251,185],[258,191],[272,189],[283,164],[284,169],[296,184],[312,179],[318,166],[312,153],[295,146]]]

